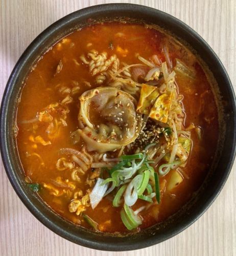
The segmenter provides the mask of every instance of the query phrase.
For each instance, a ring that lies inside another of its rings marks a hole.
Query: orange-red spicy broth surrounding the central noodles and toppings
[[[72,169],[78,168],[78,164],[73,162],[71,155],[60,154],[61,148],[75,148],[82,151],[82,148],[86,147],[82,139],[74,144],[71,136],[80,128],[78,98],[88,90],[107,86],[106,80],[101,84],[96,84],[96,76],[91,75],[88,65],[80,58],[85,56],[89,59],[87,53],[93,49],[99,54],[106,52],[107,58],[115,54],[119,59],[121,69],[123,62],[127,65],[143,63],[137,58],[136,53],[149,61],[152,61],[150,57],[156,54],[163,63],[166,61],[164,45],[168,49],[173,67],[176,65],[177,58],[195,72],[194,79],[178,72],[175,76],[178,92],[183,95],[181,100],[185,115],[183,130],[191,128],[191,123],[196,127],[201,127],[201,130],[191,130],[192,149],[186,165],[181,167],[183,181],[173,190],[168,191],[167,184],[171,179],[172,171],[165,176],[159,176],[160,188],[162,188],[160,204],[156,203],[155,198],[153,199],[155,203],[151,206],[148,202],[138,199],[132,206],[133,210],[141,206],[146,206],[146,208],[139,213],[140,218],[143,219],[142,224],[133,230],[147,228],[167,219],[180,209],[202,184],[217,146],[217,107],[210,83],[197,58],[180,45],[173,45],[173,41],[175,40],[172,37],[143,25],[109,23],[88,26],[60,40],[52,47],[52,50],[41,57],[36,68],[28,75],[17,111],[19,132],[16,139],[19,157],[27,177],[26,181],[38,183],[40,185],[39,196],[65,219],[91,228],[82,216],[86,214],[98,224],[100,231],[128,231],[120,216],[123,206],[112,206],[116,190],[113,194],[103,198],[95,209],[91,208],[86,197],[84,198],[85,204],[80,204],[81,212],[76,205],[73,207],[77,207],[78,212],[77,210],[70,212],[68,208],[71,202],[76,202],[76,200],[81,202],[82,197],[88,195],[96,183],[96,179],[87,179],[87,177],[96,177],[96,174],[93,175],[96,171],[94,168],[77,173],[79,181],[73,180],[73,170],[64,166],[63,161],[73,163]],[[146,74],[150,70],[147,66],[139,68],[143,68]],[[131,69],[131,78],[135,76],[135,72],[140,73],[140,70]],[[140,77],[138,79],[140,84],[145,82]],[[42,121],[35,121],[36,116],[45,111],[50,104],[51,109],[48,113],[51,114],[53,120],[43,121],[43,118],[48,117],[42,113]],[[63,120],[64,116],[66,118]],[[98,115],[93,115],[92,119],[96,125],[101,123]],[[51,127],[49,127],[50,123],[53,123]],[[108,155],[116,158],[119,151],[108,153]],[[134,154],[135,152],[126,148],[124,153]],[[89,154],[94,155],[93,152]],[[62,170],[59,170],[56,164],[61,158],[63,158],[60,162]],[[166,162],[162,159],[155,168],[156,172],[163,163]],[[103,178],[106,179],[108,176],[105,172]]]

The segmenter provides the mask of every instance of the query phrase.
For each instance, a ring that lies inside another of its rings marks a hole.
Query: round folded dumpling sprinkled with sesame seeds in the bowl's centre
[[[141,128],[136,100],[113,87],[98,87],[80,96],[79,129],[88,151],[114,151],[133,142]],[[99,117],[99,118],[98,118]]]

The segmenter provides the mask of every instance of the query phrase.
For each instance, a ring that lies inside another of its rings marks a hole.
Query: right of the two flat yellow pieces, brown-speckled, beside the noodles
[[[172,92],[161,94],[152,106],[149,117],[162,123],[167,123],[171,109],[172,95]]]

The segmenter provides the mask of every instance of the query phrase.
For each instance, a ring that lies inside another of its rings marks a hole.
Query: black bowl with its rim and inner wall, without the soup
[[[170,31],[177,38],[183,39],[206,63],[218,83],[214,90],[218,90],[221,95],[219,97],[218,94],[216,97],[219,112],[221,112],[219,115],[222,127],[218,143],[219,150],[202,187],[190,202],[168,220],[125,237],[96,233],[76,226],[57,215],[37,194],[32,194],[24,180],[14,137],[17,99],[22,82],[38,58],[56,41],[75,28],[86,26],[88,22],[115,17],[141,19],[145,23],[156,24]],[[229,176],[235,156],[235,113],[235,96],[229,77],[220,59],[194,30],[179,19],[149,7],[132,4],[98,5],[76,11],[58,20],[44,30],[19,58],[8,80],[1,106],[1,153],[8,178],[17,195],[46,227],[59,236],[86,247],[112,251],[134,250],[158,244],[175,236],[195,222],[216,199]]]

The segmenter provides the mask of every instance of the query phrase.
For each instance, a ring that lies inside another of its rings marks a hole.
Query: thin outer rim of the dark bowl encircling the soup
[[[191,220],[186,221],[184,225],[181,227],[177,227],[174,232],[168,233],[166,236],[163,236],[162,238],[150,238],[149,241],[143,241],[138,244],[130,244],[129,246],[124,246],[121,248],[120,245],[117,244],[108,244],[108,243],[96,243],[93,241],[87,241],[86,239],[80,238],[80,237],[75,237],[72,236],[72,234],[68,230],[61,230],[61,228],[53,223],[51,220],[48,218],[45,218],[45,216],[37,209],[36,206],[34,206],[28,199],[27,194],[25,191],[22,189],[22,186],[20,183],[16,180],[16,177],[14,175],[14,170],[12,168],[12,163],[11,163],[11,157],[10,157],[10,151],[8,149],[8,141],[6,140],[6,131],[7,131],[7,106],[9,105],[10,101],[10,95],[12,92],[13,87],[15,86],[15,80],[16,77],[20,74],[21,72],[21,67],[25,65],[25,62],[30,55],[32,51],[37,50],[37,48],[40,46],[40,44],[50,35],[52,32],[56,29],[59,29],[60,27],[63,27],[65,24],[69,24],[72,22],[76,17],[87,15],[87,14],[94,14],[94,13],[101,13],[103,11],[122,11],[124,9],[132,10],[132,11],[144,11],[144,12],[154,12],[155,15],[158,18],[158,15],[161,15],[163,17],[171,19],[173,22],[178,23],[182,29],[186,30],[189,34],[192,34],[196,37],[196,40],[199,40],[202,43],[202,47],[207,49],[207,51],[213,55],[213,58],[215,59],[216,62],[218,62],[218,65],[221,69],[221,75],[224,77],[225,80],[227,80],[227,87],[230,92],[230,102],[232,102],[232,113],[234,116],[234,128],[236,127],[236,99],[234,95],[234,90],[231,84],[231,81],[229,79],[229,76],[222,65],[222,62],[220,61],[219,57],[216,55],[216,53],[213,51],[213,49],[210,48],[210,46],[207,44],[207,42],[196,32],[194,31],[191,27],[183,23],[181,20],[178,18],[166,13],[162,12],[160,10],[143,6],[143,5],[136,5],[136,4],[102,4],[102,5],[96,5],[96,6],[90,6],[87,8],[80,9],[78,11],[72,12],[59,20],[57,20],[55,23],[50,25],[48,28],[46,28],[44,31],[42,31],[32,42],[31,44],[27,47],[27,49],[22,53],[20,56],[19,60],[17,61],[15,67],[12,70],[12,73],[10,74],[10,77],[8,79],[3,98],[2,98],[2,104],[1,104],[1,110],[0,110],[0,150],[1,150],[1,155],[2,155],[2,160],[3,164],[8,176],[8,179],[10,180],[16,194],[20,198],[20,200],[25,204],[25,206],[31,211],[31,213],[46,227],[48,227],[50,230],[54,231],[55,233],[59,234],[59,236],[77,243],[79,245],[88,247],[88,248],[93,248],[93,249],[99,249],[99,250],[109,250],[109,251],[123,251],[123,250],[135,250],[135,249],[141,249],[145,248],[151,245],[155,245],[157,243],[163,242],[167,239],[170,239],[176,234],[180,233],[184,229],[186,229],[188,226],[192,225],[196,220],[198,220],[203,213],[209,208],[209,206],[215,201],[217,196],[219,195],[220,191],[222,190],[229,174],[230,170],[232,168],[235,154],[236,154],[236,135],[232,137],[232,145],[234,146],[230,156],[229,156],[229,161],[227,166],[225,167],[225,172],[222,175],[222,180],[219,183],[215,193],[209,197],[209,199],[205,202],[205,204],[201,207],[201,209],[193,216]],[[75,17],[74,17],[75,16]]]

